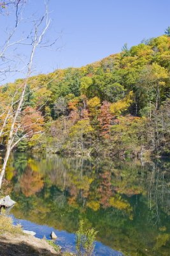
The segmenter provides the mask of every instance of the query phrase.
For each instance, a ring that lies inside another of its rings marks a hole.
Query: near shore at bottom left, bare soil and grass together
[[[71,256],[73,253],[61,252],[53,240],[40,239],[25,234],[20,225],[13,225],[9,216],[0,215],[0,256]]]

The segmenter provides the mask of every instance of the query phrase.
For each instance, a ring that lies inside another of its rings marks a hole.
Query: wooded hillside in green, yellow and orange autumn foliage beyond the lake
[[[30,77],[14,150],[120,157],[170,154],[170,36],[81,68]],[[24,79],[0,88],[1,123]],[[16,102],[16,104],[15,104]],[[6,111],[5,111],[6,109]],[[16,124],[17,125],[17,124]],[[1,136],[8,140],[10,118]],[[25,136],[23,136],[25,134]]]

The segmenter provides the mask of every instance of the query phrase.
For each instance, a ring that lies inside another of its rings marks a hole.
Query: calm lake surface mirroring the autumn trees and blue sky
[[[74,252],[78,222],[98,231],[96,255],[170,255],[170,161],[13,154],[6,179],[15,223]]]

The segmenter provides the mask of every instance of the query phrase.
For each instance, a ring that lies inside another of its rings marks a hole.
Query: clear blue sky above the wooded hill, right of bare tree
[[[29,0],[27,12],[43,12],[43,3]],[[170,26],[169,0],[50,0],[49,8],[53,21],[48,36],[62,31],[62,49],[39,51],[36,72],[81,67],[120,52],[125,42],[131,47],[162,35]]]

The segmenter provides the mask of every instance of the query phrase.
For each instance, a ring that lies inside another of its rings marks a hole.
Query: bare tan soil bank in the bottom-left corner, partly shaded
[[[56,256],[55,252],[45,239],[38,239],[30,235],[4,234],[0,236],[0,256]]]

